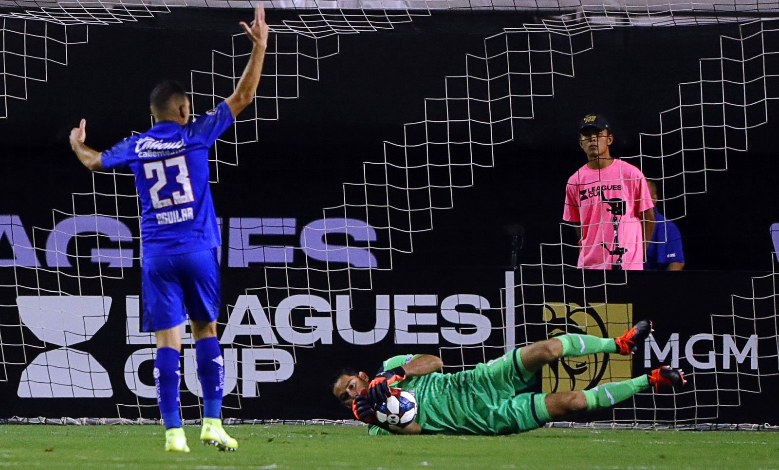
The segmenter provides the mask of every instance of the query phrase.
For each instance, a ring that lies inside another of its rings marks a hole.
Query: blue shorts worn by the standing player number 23
[[[159,331],[187,320],[212,322],[221,305],[217,249],[143,258],[143,330]]]

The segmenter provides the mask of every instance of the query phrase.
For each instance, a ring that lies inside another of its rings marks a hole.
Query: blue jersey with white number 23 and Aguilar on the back
[[[220,245],[208,184],[208,152],[233,121],[222,101],[186,125],[158,122],[103,152],[103,168],[129,168],[136,176],[143,256],[192,253]]]

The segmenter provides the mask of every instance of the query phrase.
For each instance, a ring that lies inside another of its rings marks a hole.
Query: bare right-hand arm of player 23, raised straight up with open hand
[[[246,64],[241,80],[225,102],[230,107],[233,117],[252,104],[254,95],[259,85],[259,77],[263,72],[265,50],[268,48],[268,23],[265,23],[265,8],[257,4],[254,9],[254,20],[251,25],[241,21],[241,27],[246,31],[246,36],[252,41],[252,54],[249,55],[249,63]]]

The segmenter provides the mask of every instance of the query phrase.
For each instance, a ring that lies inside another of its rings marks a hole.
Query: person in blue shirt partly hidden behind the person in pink
[[[665,220],[663,214],[657,212],[657,184],[647,179],[647,185],[654,201],[655,224],[643,269],[680,271],[684,268],[682,234],[679,233],[676,224]]]

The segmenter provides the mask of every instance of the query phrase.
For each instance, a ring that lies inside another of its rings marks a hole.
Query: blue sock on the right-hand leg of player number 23
[[[195,342],[197,376],[203,387],[203,417],[219,419],[224,389],[224,359],[216,337],[204,337]]]

